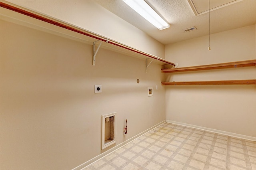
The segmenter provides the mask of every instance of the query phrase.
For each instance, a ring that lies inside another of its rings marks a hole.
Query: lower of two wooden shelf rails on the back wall
[[[162,82],[162,85],[256,85],[256,79],[251,80],[218,80],[218,81],[174,81]]]

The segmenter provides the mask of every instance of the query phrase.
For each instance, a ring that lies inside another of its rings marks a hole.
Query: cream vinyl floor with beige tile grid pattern
[[[164,123],[84,170],[256,170],[256,142]]]

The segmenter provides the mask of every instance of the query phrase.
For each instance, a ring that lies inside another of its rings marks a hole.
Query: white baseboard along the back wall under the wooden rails
[[[166,122],[176,124],[176,125],[182,125],[182,126],[186,126],[186,127],[198,128],[198,129],[201,129],[201,130],[207,130],[207,131],[210,131],[210,132],[225,134],[225,135],[236,137],[236,138],[242,138],[242,139],[256,141],[256,137],[253,137],[253,136],[246,136],[246,135],[243,135],[243,134],[226,132],[226,131],[217,130],[217,129],[214,129],[214,128],[200,127],[200,126],[197,126],[197,125],[191,125],[191,124],[187,124],[187,123],[181,123],[181,122],[170,121],[170,120],[166,120]]]

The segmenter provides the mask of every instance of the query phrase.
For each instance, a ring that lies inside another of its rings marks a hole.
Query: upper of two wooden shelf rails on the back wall
[[[192,66],[192,67],[162,69],[162,73],[175,73],[175,72],[183,72],[183,71],[199,71],[199,70],[210,70],[210,69],[227,69],[227,68],[251,67],[251,66],[256,66],[256,59],[229,62],[229,63],[199,65],[199,66]]]

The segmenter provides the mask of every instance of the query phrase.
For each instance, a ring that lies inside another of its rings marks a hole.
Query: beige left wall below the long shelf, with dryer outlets
[[[101,150],[101,115],[117,112],[115,145],[165,120],[161,65],[145,73],[145,60],[100,48],[92,66],[92,45],[6,21],[0,37],[1,170],[72,169],[98,156],[112,148]]]

